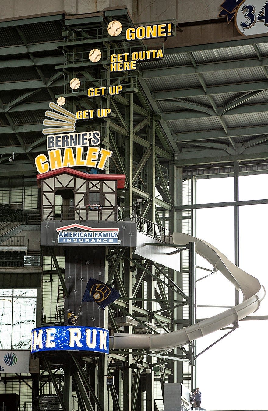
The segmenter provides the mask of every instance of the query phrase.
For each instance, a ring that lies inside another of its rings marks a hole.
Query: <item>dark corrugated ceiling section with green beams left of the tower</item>
[[[0,30],[0,154],[15,153],[12,164],[3,157],[1,176],[35,172],[34,158],[43,140],[42,118],[55,92],[63,89],[63,75],[55,65],[63,62],[64,14],[17,21],[1,21]],[[45,41],[47,40],[47,41]]]

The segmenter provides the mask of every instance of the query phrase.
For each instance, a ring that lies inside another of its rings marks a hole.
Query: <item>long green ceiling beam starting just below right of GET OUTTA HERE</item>
[[[165,51],[165,54],[166,51]],[[165,67],[158,69],[142,70],[143,79],[155,79],[161,77],[180,76],[187,74],[203,74],[213,73],[223,70],[237,70],[237,69],[250,69],[253,67],[266,67],[268,66],[268,58],[262,58],[260,61],[258,58],[249,58],[245,60],[230,60],[223,62],[211,62],[207,64],[198,64],[196,67],[192,65]]]

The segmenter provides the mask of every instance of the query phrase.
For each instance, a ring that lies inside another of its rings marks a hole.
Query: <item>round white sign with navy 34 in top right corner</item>
[[[244,36],[268,32],[268,1],[245,0],[235,15],[237,30]]]

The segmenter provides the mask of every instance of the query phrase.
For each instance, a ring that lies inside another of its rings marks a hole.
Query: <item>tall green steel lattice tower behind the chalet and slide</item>
[[[118,18],[122,21],[122,18],[124,20],[127,17],[126,11],[124,17],[117,16],[116,12],[113,12],[112,16],[107,13],[105,12],[101,22],[95,23],[96,30],[100,24],[106,26],[109,20]],[[81,38],[77,39],[77,33],[73,31],[78,27],[77,21],[68,20],[69,32],[65,34],[67,40],[64,43],[64,64],[58,66],[58,69],[65,73],[64,95],[67,97],[69,109],[75,111],[110,107],[113,113],[111,117],[78,122],[78,128],[98,129],[102,136],[102,145],[114,151],[107,171],[126,175],[125,193],[119,194],[121,204],[128,207],[137,199],[142,199],[141,205],[138,206],[139,215],[161,225],[162,216],[165,216],[165,212],[170,212],[172,225],[172,190],[162,166],[165,164],[169,167],[169,161],[174,158],[174,152],[177,151],[175,140],[165,122],[161,120],[156,103],[140,76],[126,72],[111,76],[105,65],[92,65],[88,59],[86,65],[84,64],[84,57],[81,59],[81,53],[84,53],[84,37],[86,31],[90,28],[92,32],[95,26],[94,22],[90,24],[88,20],[85,23],[79,21],[79,28],[82,30],[79,29],[78,35],[81,35]],[[114,46],[113,43],[107,44],[107,39],[100,36],[98,47],[102,50]],[[126,48],[126,44],[120,39],[117,40],[116,46],[118,52]],[[87,49],[85,53],[88,55]],[[81,79],[81,86],[75,93],[68,86],[73,77]],[[117,83],[125,88],[119,95],[90,99],[86,96],[89,87],[107,87]],[[169,178],[172,178],[172,175]],[[156,188],[160,194],[156,192]],[[124,316],[136,320],[145,333],[155,332],[154,323],[158,327],[156,332],[160,332],[161,329],[162,332],[175,329],[174,321],[179,316],[178,310],[181,310],[183,305],[189,305],[189,298],[174,282],[171,272],[152,261],[136,256],[135,249],[109,250],[107,264],[107,281],[121,294],[121,298],[108,309],[108,324],[114,332],[119,332],[117,321]],[[156,303],[159,303],[158,307]],[[123,328],[124,332],[135,332],[135,327],[124,325]],[[114,409],[120,409],[122,396],[122,409],[134,411],[143,402],[144,390],[147,393],[146,409],[155,409],[154,371],[150,374],[145,372],[148,367],[153,369],[154,358],[147,354],[144,350],[110,352],[108,363],[104,364],[104,367],[107,367],[108,375],[111,372],[114,374],[115,383],[110,394]],[[165,355],[159,359],[161,367],[158,368],[156,380],[161,383],[162,389],[163,381],[167,378],[170,381],[182,381],[182,369],[175,365],[176,357],[190,360],[188,350],[177,349],[174,350],[174,354],[173,363],[170,356],[168,358],[168,367],[165,367]],[[140,367],[136,368],[137,364]],[[77,389],[79,390],[78,386]],[[105,390],[103,383],[98,381],[100,395],[103,395]]]

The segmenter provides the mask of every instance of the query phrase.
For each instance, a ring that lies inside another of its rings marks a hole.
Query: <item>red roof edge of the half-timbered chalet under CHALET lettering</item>
[[[69,167],[63,167],[62,169],[57,169],[53,171],[48,171],[47,173],[37,174],[37,185],[40,187],[41,180],[44,178],[54,177],[54,175],[70,174],[75,177],[84,178],[85,180],[104,180],[104,181],[117,181],[117,188],[125,187],[126,176],[124,174],[88,174],[82,171],[77,171],[70,169]]]

